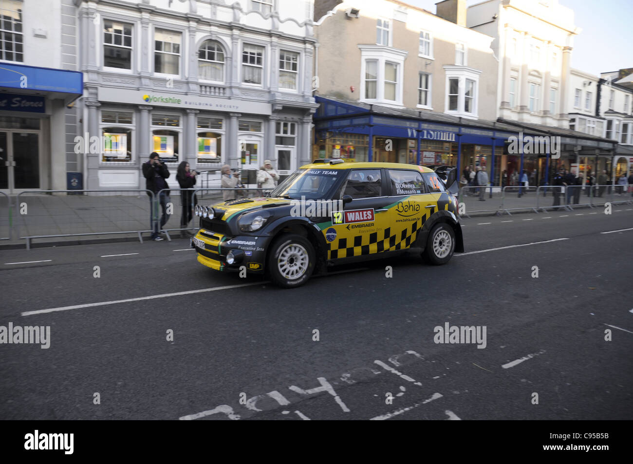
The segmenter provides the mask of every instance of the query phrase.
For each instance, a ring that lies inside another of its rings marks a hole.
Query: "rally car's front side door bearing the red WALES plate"
[[[380,168],[349,170],[337,199],[349,195],[352,201],[332,213],[332,226],[323,231],[329,245],[328,259],[383,251],[385,229],[389,229],[389,198],[383,180]]]

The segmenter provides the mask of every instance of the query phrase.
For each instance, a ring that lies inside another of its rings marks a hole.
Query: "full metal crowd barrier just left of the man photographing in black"
[[[152,232],[153,200],[149,190],[22,192],[15,205],[17,236],[27,249],[33,239],[51,237],[137,234],[142,242],[141,234]]]

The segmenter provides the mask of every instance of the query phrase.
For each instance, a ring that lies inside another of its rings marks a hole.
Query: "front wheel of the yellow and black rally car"
[[[266,268],[273,284],[290,289],[305,284],[315,269],[312,244],[296,234],[285,234],[273,242]]]

